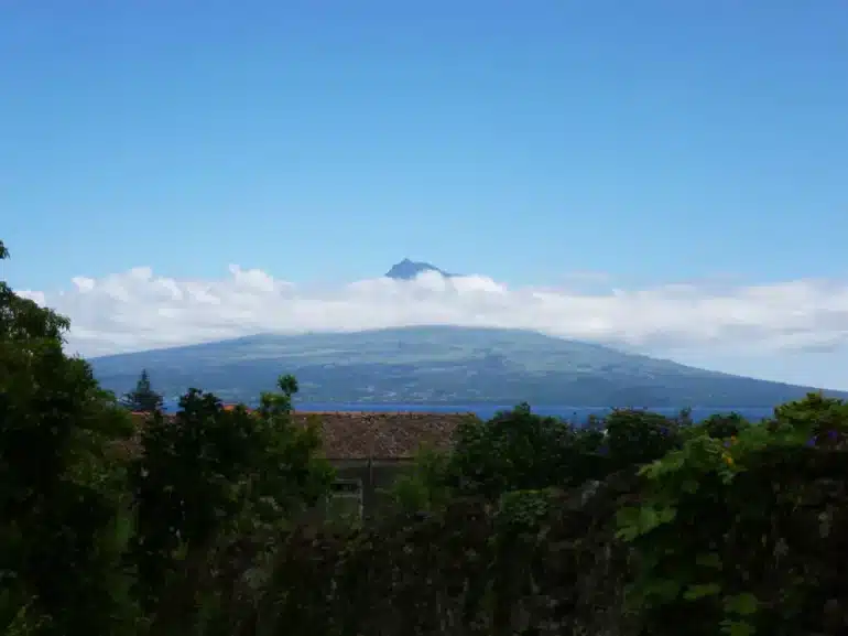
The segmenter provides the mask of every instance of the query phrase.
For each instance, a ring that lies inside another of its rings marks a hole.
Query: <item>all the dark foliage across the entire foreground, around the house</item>
[[[346,527],[311,514],[333,471],[294,378],[252,412],[192,389],[131,417],[67,327],[0,283],[2,634],[848,633],[839,400],[588,427],[521,405]]]

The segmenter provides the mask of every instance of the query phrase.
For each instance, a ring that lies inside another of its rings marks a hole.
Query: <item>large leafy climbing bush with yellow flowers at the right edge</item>
[[[848,625],[834,567],[848,548],[845,414],[811,395],[730,439],[710,421],[642,468],[641,502],[618,525],[639,554],[628,601],[646,633],[676,634],[674,619],[733,636]]]

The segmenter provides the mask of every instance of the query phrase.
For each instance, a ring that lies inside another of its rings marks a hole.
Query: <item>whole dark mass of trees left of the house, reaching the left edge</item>
[[[154,399],[133,420],[64,353],[67,327],[0,283],[0,630],[208,633],[228,550],[272,550],[331,482],[316,431],[291,421],[297,385],[253,413],[192,389],[175,418]]]

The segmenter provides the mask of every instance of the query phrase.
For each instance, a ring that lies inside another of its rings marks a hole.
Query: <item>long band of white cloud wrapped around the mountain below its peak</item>
[[[591,280],[612,283],[600,274]],[[769,377],[769,360],[848,345],[848,283],[826,280],[691,282],[587,292],[577,291],[578,284],[510,289],[481,276],[446,279],[426,272],[414,281],[379,278],[322,289],[230,266],[219,280],[177,280],[140,267],[70,282],[64,291],[22,293],[69,316],[69,348],[84,355],[260,332],[458,324],[532,328],[713,367],[710,360],[716,360],[730,371],[762,360],[759,375]],[[813,377],[811,367],[803,375],[813,384],[820,377],[848,385],[848,373],[840,374]]]

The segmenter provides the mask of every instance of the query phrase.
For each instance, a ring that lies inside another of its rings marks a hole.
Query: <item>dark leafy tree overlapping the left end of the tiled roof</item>
[[[130,472],[132,561],[154,632],[198,624],[185,607],[202,604],[202,580],[221,546],[273,536],[329,492],[333,471],[316,457],[317,431],[291,418],[296,381],[285,376],[279,387],[257,411],[225,409],[215,395],[189,389],[173,418],[155,411],[145,423]]]

